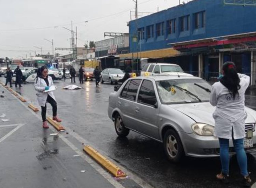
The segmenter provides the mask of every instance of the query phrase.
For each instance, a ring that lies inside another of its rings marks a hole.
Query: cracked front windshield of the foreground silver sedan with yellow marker
[[[210,93],[203,88],[211,90],[211,85],[203,79],[162,80],[157,81],[156,85],[162,103],[199,102],[199,99],[202,102],[207,102],[210,100]]]

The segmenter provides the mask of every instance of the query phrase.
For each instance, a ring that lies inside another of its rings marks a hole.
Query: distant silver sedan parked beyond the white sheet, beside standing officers
[[[119,79],[124,77],[124,72],[120,69],[104,69],[101,72],[101,83],[109,82],[112,84],[113,82],[117,83]]]

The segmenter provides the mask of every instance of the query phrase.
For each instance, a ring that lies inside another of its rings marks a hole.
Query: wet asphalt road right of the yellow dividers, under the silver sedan
[[[1,79],[3,81],[3,79]],[[155,188],[183,187],[227,187],[219,183],[215,176],[220,172],[218,158],[186,157],[180,164],[170,163],[164,154],[161,143],[148,139],[140,134],[130,132],[126,139],[117,137],[113,122],[108,118],[108,97],[114,86],[101,84],[95,87],[95,82],[87,81],[82,90],[63,90],[63,86],[71,84],[57,81],[54,91],[58,102],[58,115],[62,125],[74,130],[95,148],[103,151],[110,158],[125,166]],[[36,104],[33,84],[24,84],[14,90]],[[256,88],[246,92],[246,105],[256,110]],[[48,104],[47,113],[51,114]],[[248,154],[248,169],[252,179],[256,180],[256,153]],[[230,175],[232,183],[229,187],[241,187],[241,177],[236,157],[231,158]]]

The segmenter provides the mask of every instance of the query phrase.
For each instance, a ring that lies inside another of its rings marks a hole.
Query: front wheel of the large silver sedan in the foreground
[[[169,129],[163,139],[163,147],[168,159],[172,162],[179,162],[184,156],[184,149],[179,134]]]

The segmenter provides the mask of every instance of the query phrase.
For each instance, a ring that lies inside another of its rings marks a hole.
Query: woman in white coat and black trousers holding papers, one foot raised
[[[49,90],[49,87],[53,85],[53,79],[51,76],[48,76],[48,69],[45,66],[42,66],[37,71],[37,78],[35,79],[35,90],[37,90],[37,100],[38,104],[41,106],[43,128],[49,128],[46,121],[46,102],[50,103],[53,107],[53,120],[61,122],[61,119],[57,117],[57,102],[53,95],[53,91],[44,92]]]

